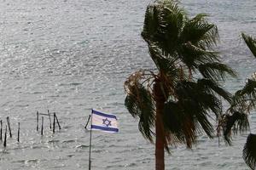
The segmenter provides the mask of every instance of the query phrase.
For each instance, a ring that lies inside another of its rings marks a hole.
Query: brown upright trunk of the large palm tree
[[[160,88],[160,81],[154,84],[154,98],[156,102],[155,121],[155,170],[165,169],[165,132],[162,121],[162,110],[164,108],[165,97]]]

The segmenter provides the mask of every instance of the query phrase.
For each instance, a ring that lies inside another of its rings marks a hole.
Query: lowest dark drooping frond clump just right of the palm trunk
[[[207,112],[192,99],[166,102],[163,121],[166,130],[175,136],[170,142],[171,144],[179,142],[187,144],[191,148],[199,133],[205,132],[210,138],[214,135]]]

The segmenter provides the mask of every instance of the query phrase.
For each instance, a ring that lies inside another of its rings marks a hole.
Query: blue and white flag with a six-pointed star
[[[91,129],[108,133],[119,132],[117,118],[114,115],[102,113],[100,111],[91,112]]]

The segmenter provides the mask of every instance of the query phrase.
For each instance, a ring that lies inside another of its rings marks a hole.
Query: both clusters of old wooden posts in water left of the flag
[[[51,126],[51,117],[50,116],[54,116],[54,120],[53,120],[53,126]],[[61,130],[61,125],[60,122],[58,120],[58,117],[56,116],[55,112],[50,113],[48,111],[48,114],[44,114],[44,113],[39,113],[37,111],[37,131],[39,130],[39,116],[42,116],[42,123],[41,123],[41,135],[43,136],[44,134],[44,116],[48,116],[49,117],[49,128],[52,129],[52,132],[55,133],[55,124],[58,124],[59,130]],[[3,147],[6,147],[7,144],[7,131],[9,129],[9,138],[12,138],[12,131],[11,131],[11,127],[10,127],[10,122],[9,122],[9,116],[6,117],[6,122],[7,125],[5,125],[5,133],[4,133],[4,138],[3,138],[3,120],[0,120],[0,141],[3,141]],[[8,127],[8,128],[7,128]],[[17,135],[17,141],[20,142],[20,122],[18,122],[18,135]]]

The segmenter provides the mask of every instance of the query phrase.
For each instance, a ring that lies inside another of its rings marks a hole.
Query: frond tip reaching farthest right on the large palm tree
[[[205,78],[212,79],[214,81],[225,80],[227,75],[236,77],[236,72],[233,71],[228,65],[224,65],[219,62],[206,63],[198,66],[198,70]]]

